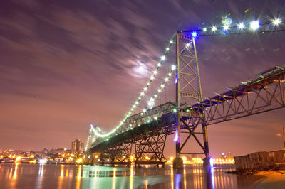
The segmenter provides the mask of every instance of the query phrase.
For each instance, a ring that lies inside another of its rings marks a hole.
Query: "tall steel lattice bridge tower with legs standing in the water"
[[[204,109],[197,109],[197,112],[185,112],[183,109],[185,104],[189,105],[192,104],[192,102],[200,103],[203,100],[195,37],[195,32],[183,33],[177,31],[176,34],[177,69],[175,84],[177,114],[175,121],[176,158],[173,161],[174,168],[182,168],[183,161],[180,158],[181,154],[204,154],[204,165],[209,165],[209,146]],[[195,132],[198,125],[202,126],[202,132]],[[187,129],[188,136],[185,141],[181,139],[181,129]],[[202,142],[199,141],[196,134],[202,134]],[[202,153],[182,152],[182,149],[191,136],[202,148]]]

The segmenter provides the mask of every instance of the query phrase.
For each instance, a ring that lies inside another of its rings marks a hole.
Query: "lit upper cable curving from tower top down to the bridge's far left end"
[[[157,75],[158,70],[159,70],[160,67],[162,66],[162,63],[165,62],[165,60],[166,60],[166,55],[167,55],[167,53],[169,53],[171,45],[172,45],[173,43],[175,43],[175,36],[176,36],[176,35],[174,34],[174,35],[172,36],[172,38],[170,39],[170,41],[169,41],[167,47],[165,48],[165,53],[164,53],[164,55],[162,55],[162,56],[160,57],[160,61],[159,61],[159,63],[157,63],[157,67],[155,68],[155,70],[152,72],[152,75],[150,76],[150,80],[147,82],[147,85],[143,88],[142,92],[140,92],[140,95],[139,95],[138,99],[135,101],[135,103],[133,104],[133,106],[132,106],[132,108],[130,109],[130,111],[125,115],[125,118],[123,119],[123,121],[120,121],[120,124],[118,124],[118,126],[116,126],[113,130],[111,130],[111,131],[108,132],[107,134],[103,134],[102,130],[101,130],[98,126],[96,126],[95,129],[98,130],[99,132],[98,132],[98,131],[95,131],[95,129],[94,129],[93,127],[91,127],[92,130],[93,130],[93,132],[94,132],[94,134],[95,134],[96,136],[99,136],[99,137],[106,137],[106,136],[110,136],[111,134],[114,134],[115,131],[117,131],[117,130],[120,128],[120,126],[122,126],[122,125],[125,123],[125,121],[128,119],[128,117],[130,117],[130,115],[133,113],[133,111],[135,110],[135,108],[138,107],[138,105],[140,104],[140,101],[141,101],[142,97],[145,96],[145,92],[147,92],[148,87],[150,87],[152,81],[155,80],[155,76]]]

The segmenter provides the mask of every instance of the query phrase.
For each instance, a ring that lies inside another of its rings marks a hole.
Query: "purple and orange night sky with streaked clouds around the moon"
[[[71,148],[123,119],[177,30],[284,18],[271,1],[0,1],[0,150]],[[204,97],[285,65],[285,33],[197,39]],[[169,63],[171,65],[171,63]],[[143,66],[144,71],[138,72]],[[285,109],[209,126],[213,156],[283,148]],[[174,154],[173,136],[166,155]]]

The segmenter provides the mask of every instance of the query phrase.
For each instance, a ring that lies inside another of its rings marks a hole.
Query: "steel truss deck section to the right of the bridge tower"
[[[205,124],[217,124],[282,108],[285,106],[284,89],[283,72],[263,78],[258,83],[233,89],[227,95],[217,95],[200,104],[205,109]]]

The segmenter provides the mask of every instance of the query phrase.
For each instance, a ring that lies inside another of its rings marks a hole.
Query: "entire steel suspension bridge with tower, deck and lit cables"
[[[221,26],[177,31],[125,118],[108,133],[104,133],[99,126],[90,126],[86,162],[101,165],[130,165],[131,162],[135,166],[164,165],[165,141],[167,136],[174,134],[175,168],[182,167],[182,154],[202,154],[204,165],[208,166],[210,156],[207,126],[285,107],[285,66],[265,70],[252,80],[240,82],[237,87],[227,88],[226,92],[215,94],[214,97],[203,97],[196,38],[284,31],[281,22],[273,19],[264,23],[255,20],[234,24],[231,20],[225,20]],[[150,86],[154,85],[157,73],[166,65],[172,46],[175,49],[173,55],[176,63],[170,67],[163,80],[155,85],[157,90],[153,92],[149,90]],[[170,82],[172,79],[175,81]],[[167,87],[175,87],[175,102],[164,102],[154,107],[154,102]],[[152,94],[147,95],[150,91]],[[138,107],[144,107],[141,102],[146,96],[151,97],[145,108],[135,112]],[[185,147],[190,139],[199,146],[200,151]]]

